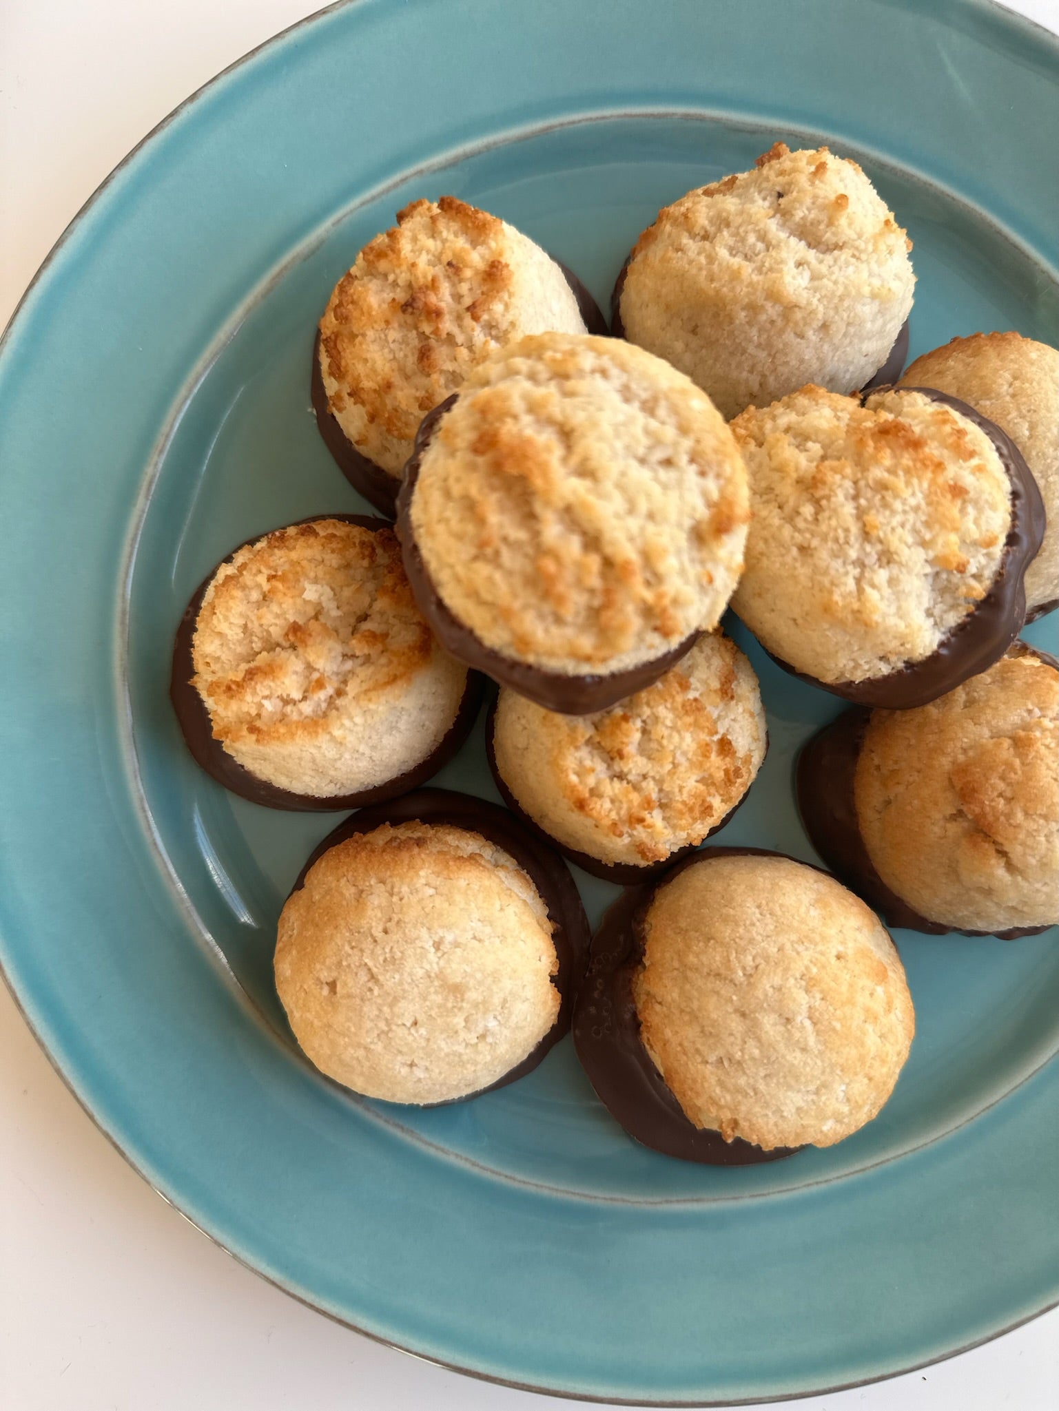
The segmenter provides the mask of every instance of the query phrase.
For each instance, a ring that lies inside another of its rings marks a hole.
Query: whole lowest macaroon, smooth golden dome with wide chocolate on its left
[[[914,1030],[901,958],[861,900],[816,868],[729,848],[611,907],[573,1020],[630,1136],[723,1165],[864,1126]]]

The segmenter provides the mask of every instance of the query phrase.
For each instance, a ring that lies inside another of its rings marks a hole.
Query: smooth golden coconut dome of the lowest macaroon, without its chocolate
[[[644,938],[641,1038],[695,1126],[832,1146],[892,1092],[915,1030],[904,967],[834,878],[707,851],[658,889]]]

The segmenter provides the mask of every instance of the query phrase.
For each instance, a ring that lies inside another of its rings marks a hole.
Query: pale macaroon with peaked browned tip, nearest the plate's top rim
[[[806,382],[851,392],[912,308],[911,248],[856,162],[777,143],[658,213],[614,291],[616,332],[727,418]]]

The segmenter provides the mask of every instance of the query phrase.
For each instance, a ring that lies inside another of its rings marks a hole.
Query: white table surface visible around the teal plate
[[[128,148],[312,8],[0,0],[0,322]],[[1011,8],[1059,30],[1059,0]],[[1045,1411],[1059,1405],[1058,1352],[1059,1309],[935,1367],[788,1404]],[[555,1405],[381,1348],[236,1264],[126,1165],[0,986],[0,1411]]]

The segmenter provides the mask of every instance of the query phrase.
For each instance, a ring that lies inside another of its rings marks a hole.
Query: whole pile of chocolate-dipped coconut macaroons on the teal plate
[[[573,1015],[633,1137],[775,1160],[870,1122],[908,1057],[871,907],[1004,937],[1056,920],[1059,674],[1015,639],[1059,597],[1059,353],[974,334],[901,378],[909,250],[856,162],[777,144],[659,212],[609,337],[575,275],[449,196],[339,281],[316,419],[397,522],[237,549],[172,673],[226,787],[359,810],[280,919],[277,989],[322,1072],[452,1102],[528,1072]],[[729,605],[856,703],[798,769],[834,876],[699,851],[768,745]],[[481,677],[507,809],[418,789]],[[627,885],[590,948],[559,854]]]

